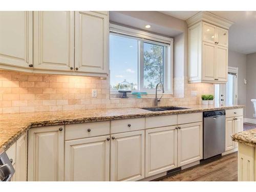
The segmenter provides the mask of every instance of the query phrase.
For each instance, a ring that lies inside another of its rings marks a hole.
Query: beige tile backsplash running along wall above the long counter
[[[201,94],[214,93],[213,84],[186,82],[187,79],[175,78],[175,97],[164,95],[160,105],[199,104]],[[92,89],[97,90],[97,98],[92,98]],[[197,96],[191,97],[191,91],[197,91]],[[154,95],[142,97],[142,99],[110,99],[109,78],[0,70],[0,114],[154,105]]]

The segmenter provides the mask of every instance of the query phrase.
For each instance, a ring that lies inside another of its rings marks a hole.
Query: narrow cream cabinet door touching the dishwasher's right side
[[[230,135],[234,133],[234,117],[226,118],[226,145],[225,151],[232,150],[234,148],[234,142]]]

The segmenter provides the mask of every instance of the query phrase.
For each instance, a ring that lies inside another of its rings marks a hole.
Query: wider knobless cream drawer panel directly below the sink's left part
[[[177,115],[164,115],[157,117],[147,117],[146,118],[146,129],[170,126],[177,124]]]

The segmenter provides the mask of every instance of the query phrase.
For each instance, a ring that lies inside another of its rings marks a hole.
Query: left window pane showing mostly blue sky
[[[118,90],[119,83],[126,80],[137,90],[138,40],[110,35],[110,86]]]

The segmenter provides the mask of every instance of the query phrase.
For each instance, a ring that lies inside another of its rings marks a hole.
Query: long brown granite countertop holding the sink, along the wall
[[[139,108],[36,112],[0,115],[0,148],[8,148],[31,127],[63,125],[243,108],[244,105],[180,105],[186,110],[151,112]]]

